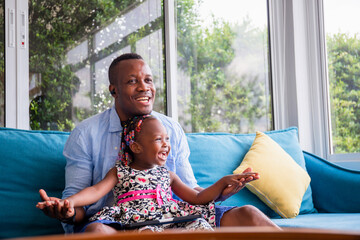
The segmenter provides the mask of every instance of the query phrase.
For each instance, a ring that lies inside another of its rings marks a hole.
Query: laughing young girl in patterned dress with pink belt
[[[68,208],[66,218],[70,218],[74,215],[74,207],[95,203],[112,189],[114,205],[104,207],[90,221],[109,225],[114,222],[128,224],[202,214],[204,218],[192,222],[150,225],[140,230],[212,229],[215,226],[214,200],[223,190],[229,185],[241,186],[258,178],[256,173],[251,172],[228,175],[197,192],[164,167],[169,152],[169,136],[161,122],[150,115],[135,117],[125,123],[119,159],[102,181],[60,203],[40,202],[37,207],[61,204]],[[184,201],[174,200],[172,191]]]

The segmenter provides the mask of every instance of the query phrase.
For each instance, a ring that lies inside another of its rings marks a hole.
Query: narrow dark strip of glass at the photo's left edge
[[[5,12],[0,0],[0,127],[5,126]]]

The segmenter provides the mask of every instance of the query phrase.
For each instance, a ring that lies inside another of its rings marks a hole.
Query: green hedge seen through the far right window
[[[331,122],[335,153],[360,152],[360,38],[327,36]]]

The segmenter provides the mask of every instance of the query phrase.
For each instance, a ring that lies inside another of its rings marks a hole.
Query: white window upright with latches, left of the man
[[[29,129],[28,2],[5,1],[5,126]]]

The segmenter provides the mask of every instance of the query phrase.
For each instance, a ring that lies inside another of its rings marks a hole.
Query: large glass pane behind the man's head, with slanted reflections
[[[31,0],[30,125],[71,130],[113,105],[108,67],[136,52],[150,65],[164,113],[162,0]]]

